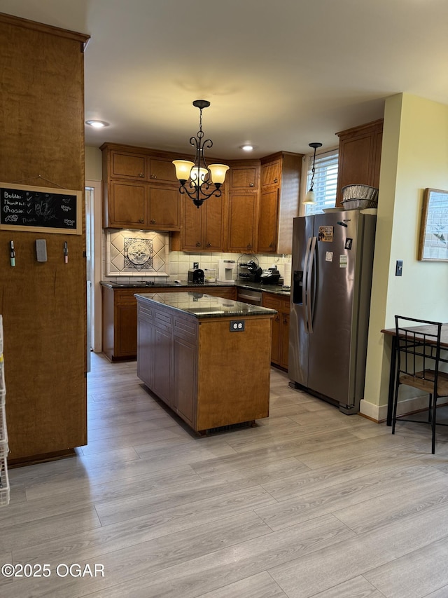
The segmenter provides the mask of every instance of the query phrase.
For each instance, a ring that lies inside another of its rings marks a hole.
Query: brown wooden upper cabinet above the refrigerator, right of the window
[[[383,119],[336,133],[339,137],[336,205],[342,205],[342,187],[379,186]]]

